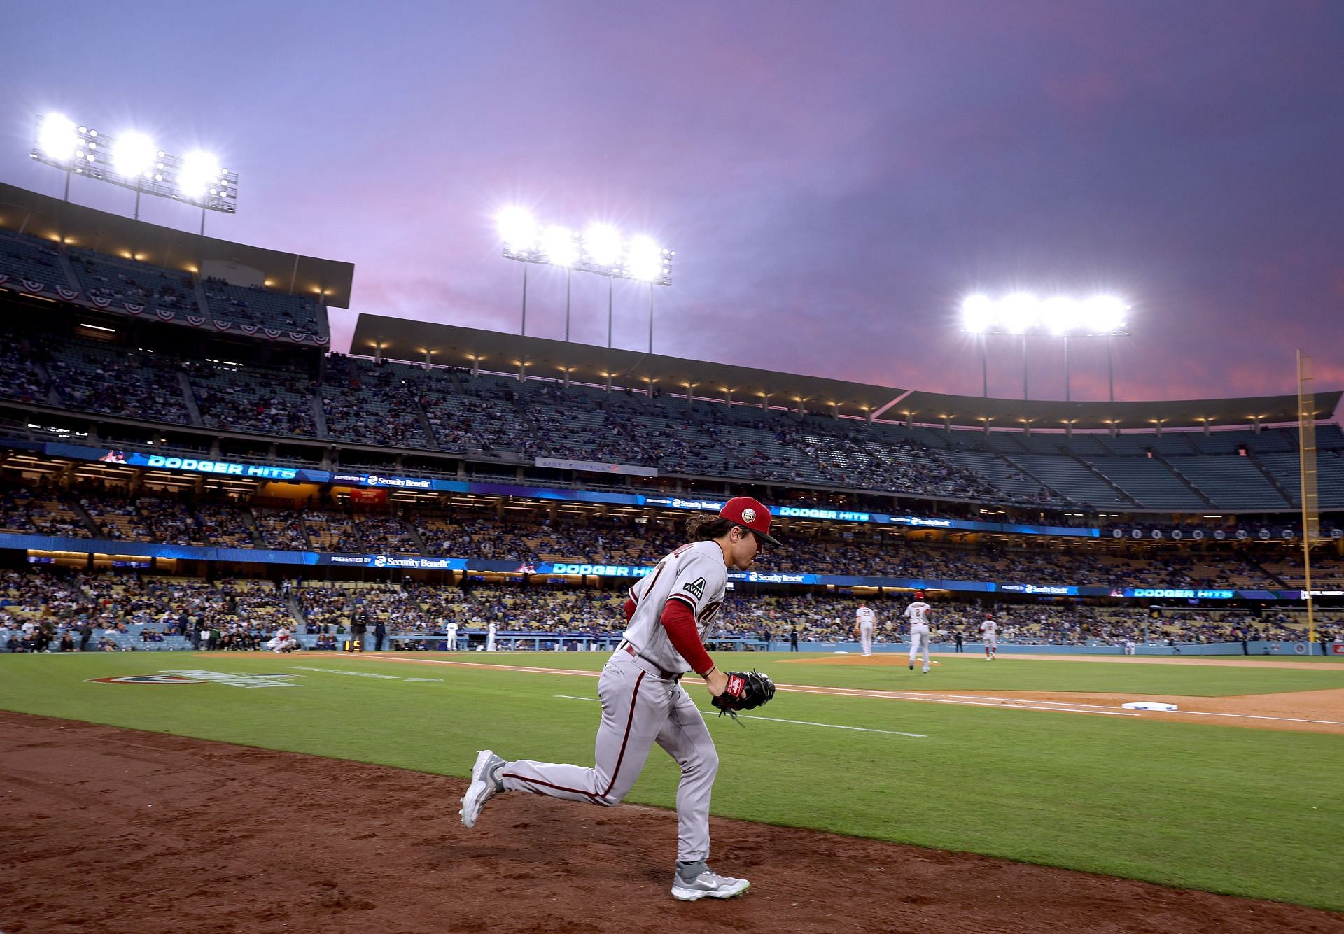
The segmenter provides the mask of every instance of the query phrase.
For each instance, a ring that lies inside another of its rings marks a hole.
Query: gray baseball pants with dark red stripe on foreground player
[[[504,765],[504,789],[613,806],[634,786],[657,743],[681,766],[676,790],[677,859],[708,859],[710,793],[719,754],[689,695],[677,679],[664,677],[655,665],[624,649],[617,649],[602,668],[597,693],[602,702],[597,765],[585,769],[517,759]]]

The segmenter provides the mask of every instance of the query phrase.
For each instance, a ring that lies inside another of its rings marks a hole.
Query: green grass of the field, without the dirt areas
[[[407,656],[410,657],[410,656]],[[444,656],[418,656],[442,660]],[[942,656],[905,667],[828,656],[720,656],[781,683],[911,689],[1168,695],[1344,688],[1344,668],[1198,668]],[[462,661],[595,671],[597,653]],[[785,663],[789,664],[785,664]],[[301,671],[296,665],[348,673]],[[202,668],[293,673],[298,688],[93,684]],[[442,679],[409,681],[411,677]],[[694,679],[692,679],[694,680]],[[707,695],[689,684],[702,708]],[[0,657],[0,708],[293,750],[465,778],[478,749],[591,763],[597,679],[375,659],[132,653]],[[556,695],[579,697],[573,700]],[[716,814],[958,849],[1344,910],[1344,736],[781,692],[762,715],[710,719]],[[673,806],[676,767],[655,751],[630,801]],[[445,788],[444,820],[457,802]],[[482,816],[505,812],[507,797]],[[675,829],[668,828],[668,848]]]

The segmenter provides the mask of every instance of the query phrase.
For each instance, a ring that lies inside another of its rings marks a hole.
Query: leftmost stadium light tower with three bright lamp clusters
[[[112,137],[75,125],[59,113],[40,114],[31,155],[66,173],[67,202],[73,175],[133,189],[136,220],[140,220],[141,194],[199,207],[202,237],[206,235],[206,211],[238,211],[238,176],[222,168],[218,159],[204,152],[173,156],[144,133],[128,130]]]

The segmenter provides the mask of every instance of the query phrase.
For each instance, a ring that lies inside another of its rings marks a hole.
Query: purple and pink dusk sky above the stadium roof
[[[1344,387],[1341,3],[67,0],[3,32],[0,179],[60,195],[27,156],[48,110],[219,153],[242,194],[211,235],[355,263],[337,349],[358,312],[516,332],[493,215],[520,203],[677,251],[660,353],[978,395],[965,294],[1106,290],[1134,306],[1118,399],[1292,392],[1296,348]],[[560,337],[563,274],[532,269],[528,333]],[[606,282],[573,301],[603,344]],[[646,302],[617,284],[617,345]],[[991,395],[1021,394],[1015,341]],[[1060,347],[1032,398],[1063,398]],[[1106,398],[1105,341],[1071,357]]]

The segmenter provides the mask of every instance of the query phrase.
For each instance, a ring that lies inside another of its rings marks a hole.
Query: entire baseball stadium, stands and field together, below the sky
[[[1339,391],[956,396],[363,310],[337,353],[353,275],[0,185],[0,930],[1344,927]],[[657,754],[614,810],[464,828],[478,750],[591,761],[632,586],[737,496],[781,547],[706,642],[774,696],[687,696],[745,898],[667,898]]]

